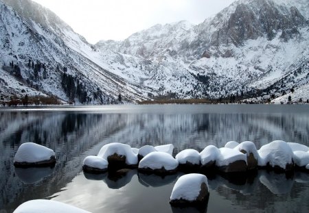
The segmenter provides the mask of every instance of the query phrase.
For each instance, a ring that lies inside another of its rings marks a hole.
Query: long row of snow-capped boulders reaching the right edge
[[[201,153],[194,149],[185,149],[175,158],[172,156],[173,150],[173,145],[146,145],[136,149],[117,142],[111,143],[104,145],[98,156],[85,158],[83,169],[100,173],[108,169],[129,167],[159,175],[176,171],[238,173],[258,168],[271,168],[279,172],[290,172],[295,168],[309,171],[309,147],[282,140],[270,142],[259,150],[251,141],[230,141],[222,148],[209,145]]]

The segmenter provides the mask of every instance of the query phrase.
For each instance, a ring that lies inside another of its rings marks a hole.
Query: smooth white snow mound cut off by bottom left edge
[[[72,205],[49,200],[32,200],[21,205],[13,213],[90,213]]]

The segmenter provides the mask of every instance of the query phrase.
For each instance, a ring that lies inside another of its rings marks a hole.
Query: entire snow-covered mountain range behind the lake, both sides
[[[44,93],[107,103],[119,94],[126,101],[167,94],[277,97],[308,88],[307,0],[239,0],[199,25],[155,25],[96,45],[30,0],[0,0],[0,10],[6,98]]]

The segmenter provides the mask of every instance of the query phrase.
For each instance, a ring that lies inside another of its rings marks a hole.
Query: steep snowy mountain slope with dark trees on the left
[[[14,75],[13,62],[21,84],[77,103],[111,103],[119,94],[127,101],[141,97],[139,88],[102,68],[93,47],[53,12],[20,0],[0,1],[0,10],[2,70]],[[64,73],[73,79],[73,88],[65,88]]]

